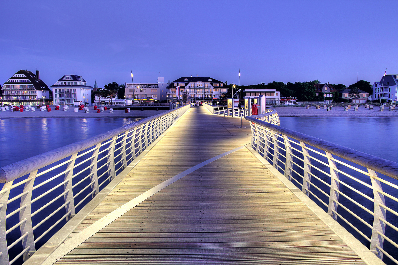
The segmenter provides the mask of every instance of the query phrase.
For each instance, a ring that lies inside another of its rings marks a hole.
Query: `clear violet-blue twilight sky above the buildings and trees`
[[[0,0],[0,83],[209,76],[350,85],[398,74],[398,1]]]

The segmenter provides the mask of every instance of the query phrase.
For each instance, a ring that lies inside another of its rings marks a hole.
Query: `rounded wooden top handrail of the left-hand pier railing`
[[[101,143],[107,139],[119,135],[120,133],[126,132],[127,130],[138,127],[146,122],[149,122],[150,120],[154,120],[156,118],[159,118],[163,115],[166,115],[170,112],[176,111],[179,108],[183,107],[184,106],[175,108],[173,110],[168,110],[166,112],[162,112],[154,116],[150,116],[148,118],[144,118],[142,120],[126,124],[124,126],[110,130],[108,132],[100,133],[88,139],[84,139],[76,143],[71,143],[69,145],[59,147],[57,149],[48,151],[46,153],[35,155],[34,157],[29,157],[27,159],[15,162],[14,164],[3,166],[2,168],[0,168],[0,183],[7,183],[12,180],[15,180],[25,174],[28,174],[39,168],[43,168],[44,166],[48,166],[49,164],[57,162],[66,157],[69,157],[75,153],[87,149],[88,147],[92,147],[93,145]]]

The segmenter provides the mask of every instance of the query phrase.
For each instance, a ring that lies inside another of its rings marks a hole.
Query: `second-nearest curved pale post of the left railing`
[[[21,197],[21,204],[20,206],[26,205],[25,208],[21,209],[20,211],[20,222],[23,222],[20,226],[21,235],[24,235],[26,232],[28,235],[22,240],[22,248],[26,249],[30,247],[29,251],[23,253],[23,262],[25,262],[33,253],[36,252],[35,248],[35,238],[33,236],[33,226],[32,226],[32,218],[31,218],[31,202],[32,202],[32,191],[33,191],[33,184],[35,183],[37,170],[31,172],[28,178],[31,180],[25,183],[23,187],[23,192],[27,193]]]

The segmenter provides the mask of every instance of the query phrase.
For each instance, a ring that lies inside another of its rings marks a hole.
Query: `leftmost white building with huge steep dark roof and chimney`
[[[27,70],[20,70],[2,86],[3,104],[8,105],[43,105],[50,102],[50,89],[36,75]]]

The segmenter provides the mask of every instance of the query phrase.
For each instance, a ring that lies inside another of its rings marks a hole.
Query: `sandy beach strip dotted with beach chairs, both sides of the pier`
[[[204,107],[203,107],[204,108]],[[326,109],[316,109],[311,106],[310,109],[306,107],[275,107],[280,117],[398,117],[398,107],[394,110],[388,110],[385,107],[383,111],[375,106],[373,110],[369,110],[364,106],[358,108],[357,111],[351,106],[351,109],[344,111],[344,107],[333,107],[332,111]],[[125,113],[124,110],[113,110],[113,113],[108,111],[97,113],[90,107],[90,112],[85,113],[83,110],[73,112],[73,108],[69,110],[53,110],[47,111],[24,111],[11,112],[10,110],[0,112],[0,118],[146,118],[166,110],[132,110],[130,113]]]

